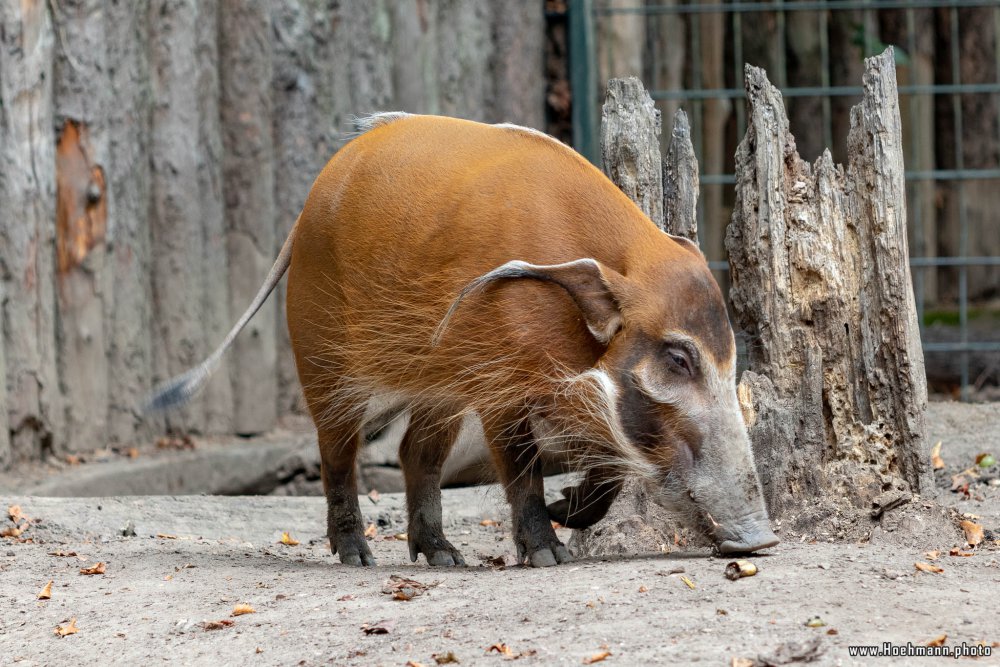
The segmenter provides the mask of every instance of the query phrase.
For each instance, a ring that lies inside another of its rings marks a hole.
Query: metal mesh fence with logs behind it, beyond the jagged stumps
[[[964,400],[1000,384],[1000,0],[570,0],[569,14],[574,96],[589,100],[574,104],[575,145],[599,160],[609,77],[639,76],[665,123],[683,106],[703,172],[699,235],[724,286],[743,63],[781,90],[803,158],[828,147],[843,162],[863,57],[893,45],[928,368]]]

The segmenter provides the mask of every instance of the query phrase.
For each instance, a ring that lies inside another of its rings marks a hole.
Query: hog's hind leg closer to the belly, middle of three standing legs
[[[441,466],[458,437],[461,419],[454,411],[414,407],[399,447],[406,481],[406,528],[410,560],[424,554],[433,566],[465,565],[444,536],[441,519]]]

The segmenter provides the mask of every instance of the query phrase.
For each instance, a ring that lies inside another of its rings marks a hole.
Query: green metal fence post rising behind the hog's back
[[[573,91],[573,147],[600,167],[593,0],[569,2],[569,83]]]

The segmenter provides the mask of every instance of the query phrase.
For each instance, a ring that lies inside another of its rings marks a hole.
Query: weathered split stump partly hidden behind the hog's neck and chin
[[[605,173],[658,227],[697,243],[698,160],[687,115],[674,115],[665,161],[660,127],[660,111],[637,78],[608,82],[601,119]],[[573,531],[569,548],[577,556],[649,553],[682,533],[683,539],[693,535],[652,502],[641,481],[629,480],[603,519]]]

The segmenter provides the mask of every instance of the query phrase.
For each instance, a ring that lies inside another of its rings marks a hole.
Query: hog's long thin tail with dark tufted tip
[[[302,216],[300,214],[299,219],[301,219],[301,217]],[[281,277],[285,275],[285,271],[288,270],[288,265],[292,261],[292,244],[295,240],[295,230],[298,229],[299,226],[299,219],[296,219],[295,225],[292,227],[292,231],[289,232],[288,238],[285,239],[284,245],[281,246],[281,252],[278,253],[278,258],[271,266],[271,271],[267,274],[267,279],[264,281],[264,284],[260,286],[260,289],[257,291],[257,295],[253,298],[250,306],[240,317],[239,321],[233,325],[233,328],[226,335],[222,344],[219,345],[219,347],[217,347],[207,359],[194,368],[178,375],[177,377],[171,378],[156,387],[156,389],[153,390],[153,393],[147,396],[145,401],[143,401],[143,412],[166,410],[168,408],[181,405],[190,400],[191,397],[197,394],[198,391],[205,385],[208,379],[212,376],[212,373],[214,373],[219,367],[222,355],[224,355],[226,350],[229,349],[229,346],[233,344],[233,341],[236,339],[236,336],[239,335],[240,331],[243,330],[243,327],[247,325],[257,311],[260,310],[260,307],[264,305],[264,302],[267,301],[267,297],[274,291],[278,281],[281,280]]]

